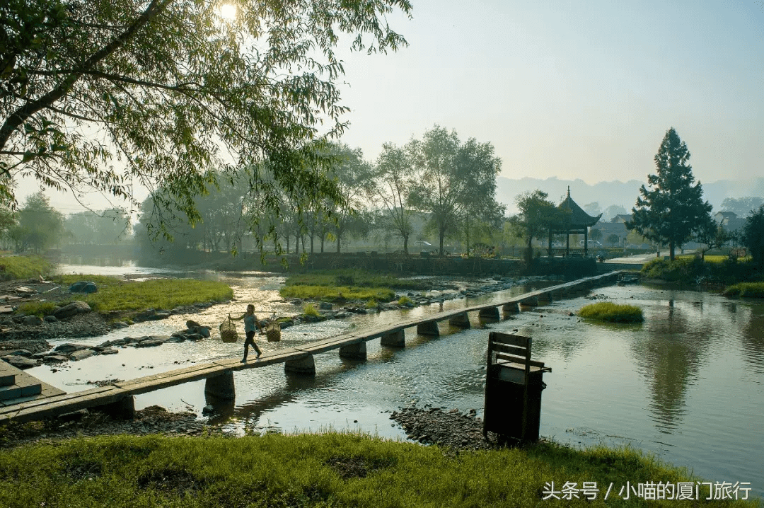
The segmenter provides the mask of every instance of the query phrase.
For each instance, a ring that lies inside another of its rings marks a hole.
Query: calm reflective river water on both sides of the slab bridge
[[[111,270],[62,266],[60,271]],[[151,276],[154,272],[122,267],[121,273]],[[170,334],[185,328],[189,318],[216,326],[228,312],[244,312],[250,302],[258,310],[279,315],[299,312],[281,301],[277,290],[283,279],[271,274],[175,276],[223,280],[234,288],[238,301],[78,342],[99,344],[107,338]],[[283,330],[280,342],[259,344],[264,351],[290,348],[353,327],[397,322],[403,316],[500,302],[526,290],[529,287],[517,286],[407,311],[299,325]],[[228,419],[227,425],[238,432],[351,429],[405,440],[405,432],[389,419],[389,413],[412,403],[477,409],[480,416],[488,329],[518,329],[521,335],[533,337],[533,358],[552,367],[552,373],[544,377],[548,387],[542,395],[542,435],[571,445],[631,445],[685,466],[705,480],[750,482],[751,494],[764,497],[764,303],[646,286],[610,286],[593,295],[641,306],[645,322],[603,325],[568,317],[568,311],[591,303],[583,297],[495,323],[482,323],[471,315],[471,329],[441,323],[439,338],[406,330],[406,348],[382,348],[379,341],[370,341],[365,362],[341,359],[337,351],[316,355],[316,377],[287,376],[281,364],[238,372],[235,403],[217,406],[222,414],[216,418]],[[66,391],[86,390],[92,381],[156,374],[191,362],[239,356],[241,349],[241,342],[226,344],[213,336],[159,348],[124,348],[118,354],[57,367],[60,370],[55,373],[47,366],[29,372]],[[160,404],[167,409],[190,409],[200,417],[206,403],[203,381],[136,397],[136,409]]]

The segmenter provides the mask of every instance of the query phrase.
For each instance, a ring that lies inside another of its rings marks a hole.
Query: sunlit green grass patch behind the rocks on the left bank
[[[97,275],[65,275],[56,277],[64,287],[78,280],[90,280],[98,293],[73,294],[68,301],[82,300],[98,312],[140,312],[145,309],[171,310],[194,303],[224,302],[233,298],[233,290],[212,280],[151,279],[121,280]],[[23,312],[45,313],[50,303],[30,302]],[[21,309],[20,309],[21,310]]]

